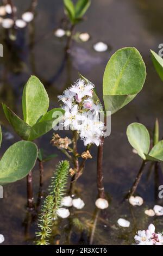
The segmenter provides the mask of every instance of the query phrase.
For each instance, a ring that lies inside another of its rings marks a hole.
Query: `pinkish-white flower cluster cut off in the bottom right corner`
[[[163,235],[155,233],[153,224],[150,224],[147,230],[139,230],[134,238],[136,245],[163,245]]]

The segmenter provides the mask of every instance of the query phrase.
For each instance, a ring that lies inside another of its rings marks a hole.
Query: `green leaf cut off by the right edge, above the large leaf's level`
[[[161,80],[163,81],[163,59],[152,50],[151,50],[151,57],[152,57],[154,68],[158,73],[159,77],[161,78]]]

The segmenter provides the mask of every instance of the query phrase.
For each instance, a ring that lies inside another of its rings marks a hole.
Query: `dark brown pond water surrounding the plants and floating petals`
[[[30,1],[15,0],[18,14],[29,8]],[[84,44],[73,42],[72,53],[65,65],[65,39],[57,39],[53,30],[59,26],[64,16],[62,1],[39,1],[35,20],[26,29],[17,31],[17,40],[7,40],[1,28],[0,43],[4,46],[4,57],[0,59],[0,101],[7,103],[16,113],[21,115],[22,89],[29,76],[34,74],[46,86],[51,100],[51,107],[58,106],[57,95],[70,86],[78,78],[78,71],[95,83],[99,95],[102,96],[102,78],[106,63],[118,48],[135,46],[142,54],[147,66],[147,79],[142,92],[121,111],[112,116],[111,136],[106,138],[104,147],[104,185],[109,199],[109,208],[104,212],[96,212],[96,147],[92,149],[93,160],[88,161],[83,176],[78,180],[78,195],[83,198],[85,208],[72,212],[68,220],[60,221],[54,230],[52,243],[82,244],[89,243],[93,220],[98,215],[97,227],[93,243],[97,245],[125,245],[133,243],[137,229],[147,228],[154,223],[158,231],[163,231],[162,217],[148,217],[145,209],[154,204],[163,205],[158,199],[158,186],[163,184],[162,171],[150,171],[149,165],[137,189],[145,203],[133,208],[122,198],[133,183],[139,170],[141,159],[133,154],[127,141],[126,128],[133,121],[140,121],[152,132],[156,117],[160,121],[160,132],[163,135],[163,84],[153,68],[149,49],[158,52],[162,43],[162,8],[161,0],[93,0],[87,12],[87,20],[76,30],[91,34],[91,40]],[[104,41],[111,47],[110,52],[97,53],[92,45]],[[19,138],[11,130],[0,108],[0,123],[3,129],[1,155]],[[5,139],[10,131],[14,138]],[[46,153],[57,153],[58,157],[45,164],[46,190],[55,164],[64,156],[52,148],[49,141],[52,131],[39,139],[39,146]],[[39,191],[39,167],[34,169],[35,199]],[[78,217],[84,223],[80,231],[72,224]],[[118,227],[118,218],[126,218],[131,222],[128,229]],[[0,199],[0,234],[5,236],[6,245],[32,244],[36,221],[26,212],[26,179],[4,187],[4,199]],[[31,225],[30,225],[31,224]],[[56,236],[57,235],[57,236]]]

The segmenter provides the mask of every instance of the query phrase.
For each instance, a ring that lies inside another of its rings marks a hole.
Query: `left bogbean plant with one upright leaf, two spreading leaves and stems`
[[[25,141],[34,141],[42,135],[52,130],[60,120],[61,114],[64,113],[60,108],[53,108],[48,111],[49,97],[40,80],[31,76],[23,89],[22,109],[23,119],[18,117],[9,107],[2,103],[4,114],[18,136]],[[58,118],[53,117],[58,113]],[[40,166],[40,183],[42,184],[42,155],[39,151]],[[33,188],[32,188],[32,171],[27,175],[27,196],[28,208],[33,209]]]

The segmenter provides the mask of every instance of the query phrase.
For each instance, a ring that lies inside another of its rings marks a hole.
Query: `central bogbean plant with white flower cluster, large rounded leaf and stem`
[[[61,138],[58,134],[54,134],[52,142],[73,163],[71,169],[73,184],[83,173],[86,159],[92,157],[89,151],[91,145],[97,145],[98,197],[103,199],[101,202],[105,205],[99,204],[99,208],[108,207],[108,202],[105,200],[102,170],[106,119],[110,113],[116,113],[134,99],[142,89],[145,78],[146,67],[140,53],[134,47],[126,47],[118,50],[106,65],[103,77],[104,107],[95,92],[95,86],[83,76],[80,76],[76,83],[59,96],[62,102],[61,107],[65,111],[62,124],[66,129],[69,127],[73,131],[73,137],[72,139]],[[99,113],[102,111],[105,117],[99,120]],[[79,138],[85,145],[83,153],[78,152]],[[83,158],[82,162],[79,157]]]

